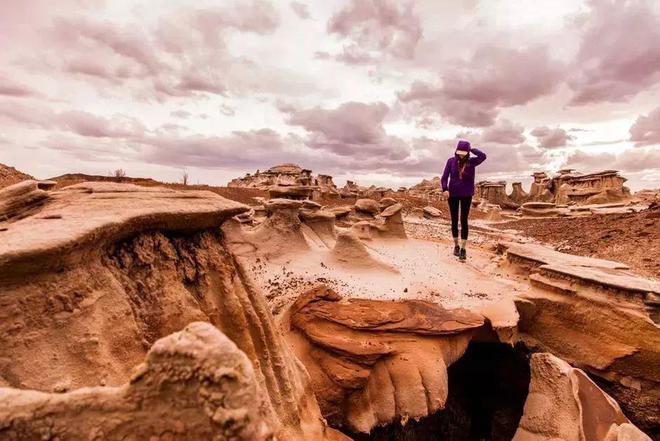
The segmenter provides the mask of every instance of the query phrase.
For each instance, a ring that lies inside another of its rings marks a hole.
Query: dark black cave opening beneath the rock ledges
[[[411,421],[347,433],[356,441],[509,441],[516,432],[529,390],[529,352],[522,345],[470,343],[449,367],[445,409]]]

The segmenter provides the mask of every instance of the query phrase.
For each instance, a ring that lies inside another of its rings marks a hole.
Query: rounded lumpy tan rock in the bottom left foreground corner
[[[130,382],[64,394],[0,389],[3,439],[271,439],[276,421],[252,363],[195,322],[158,340]],[[160,438],[158,438],[160,439]]]

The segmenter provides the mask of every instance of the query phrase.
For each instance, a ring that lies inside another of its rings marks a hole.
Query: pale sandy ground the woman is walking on
[[[250,270],[266,292],[274,314],[300,293],[325,283],[342,296],[377,300],[422,299],[447,308],[479,310],[485,305],[509,300],[528,289],[515,275],[503,274],[501,258],[476,244],[489,244],[478,233],[463,263],[452,254],[449,226],[442,221],[420,219],[407,224],[408,240],[365,241],[371,255],[382,265],[356,268],[333,259],[324,247],[259,260]]]

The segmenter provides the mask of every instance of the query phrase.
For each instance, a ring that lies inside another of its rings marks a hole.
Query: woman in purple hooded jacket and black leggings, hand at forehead
[[[470,153],[475,157],[470,158]],[[454,156],[447,160],[442,174],[442,191],[449,191],[451,235],[454,237],[454,256],[466,259],[465,243],[468,236],[468,215],[474,196],[474,168],[486,160],[486,154],[470,147],[467,141],[458,141]],[[461,241],[458,242],[458,213],[461,213]]]

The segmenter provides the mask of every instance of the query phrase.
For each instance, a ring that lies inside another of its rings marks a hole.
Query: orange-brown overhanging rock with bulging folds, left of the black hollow
[[[321,410],[363,433],[444,408],[447,366],[484,323],[463,309],[342,299],[325,287],[299,301],[290,309],[287,337],[311,374]]]

